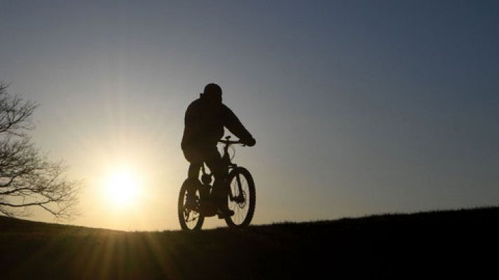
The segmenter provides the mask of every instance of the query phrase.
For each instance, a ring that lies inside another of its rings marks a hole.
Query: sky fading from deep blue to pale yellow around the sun
[[[179,229],[184,112],[207,83],[257,140],[234,158],[255,179],[254,224],[490,206],[498,15],[497,1],[0,0],[0,80],[40,104],[32,140],[84,181],[75,225]],[[128,202],[109,187],[119,172],[139,188]]]

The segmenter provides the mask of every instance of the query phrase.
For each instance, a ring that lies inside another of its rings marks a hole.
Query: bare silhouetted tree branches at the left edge
[[[63,177],[62,162],[41,155],[27,135],[38,104],[8,94],[0,83],[0,214],[26,216],[41,207],[57,218],[74,214],[79,184]]]

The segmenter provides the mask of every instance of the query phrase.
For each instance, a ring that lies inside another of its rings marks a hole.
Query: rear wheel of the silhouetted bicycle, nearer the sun
[[[192,190],[193,197],[188,203],[188,191]],[[180,188],[178,202],[179,223],[182,230],[196,231],[200,230],[205,221],[205,217],[199,213],[200,193],[197,186],[192,186],[191,181],[186,179]]]

